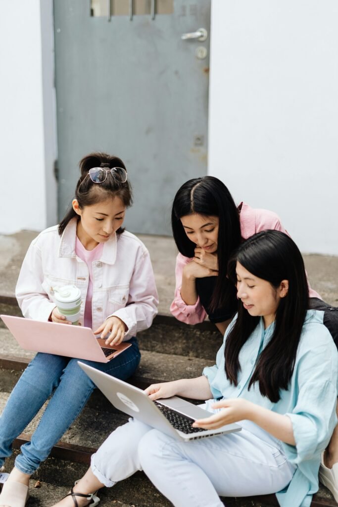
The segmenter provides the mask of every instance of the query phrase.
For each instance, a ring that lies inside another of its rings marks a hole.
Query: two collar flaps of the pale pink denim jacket
[[[75,252],[75,243],[77,238],[77,218],[73,218],[67,224],[62,233],[59,257],[77,257]],[[103,245],[100,261],[105,264],[115,264],[117,255],[117,235],[116,233],[111,236]]]

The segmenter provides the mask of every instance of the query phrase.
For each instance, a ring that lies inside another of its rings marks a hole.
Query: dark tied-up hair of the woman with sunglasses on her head
[[[91,206],[97,202],[107,199],[108,197],[119,197],[125,206],[131,206],[133,202],[131,185],[128,180],[125,183],[118,182],[114,176],[108,171],[107,177],[102,183],[94,183],[88,176],[88,171],[92,167],[105,167],[106,169],[112,167],[122,167],[126,169],[126,166],[119,157],[115,155],[107,155],[106,153],[93,152],[83,157],[79,162],[81,176],[78,180],[75,199],[78,200],[79,207],[83,209],[85,206]],[[66,226],[71,219],[76,217],[79,219],[79,215],[73,210],[72,206],[66,212],[64,218],[61,220],[58,232],[61,236]],[[124,231],[120,227],[116,233],[121,234]]]

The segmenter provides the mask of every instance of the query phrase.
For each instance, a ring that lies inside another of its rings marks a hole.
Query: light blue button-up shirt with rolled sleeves
[[[287,459],[297,468],[287,488],[276,494],[282,507],[310,506],[312,495],[318,491],[321,452],[337,422],[338,353],[323,324],[323,316],[322,311],[308,310],[289,388],[281,390],[278,403],[262,396],[257,382],[248,390],[258,356],[272,337],[274,323],[265,330],[261,318],[243,345],[239,353],[241,370],[237,386],[231,385],[224,373],[224,344],[237,317],[224,335],[216,365],[203,370],[215,399],[242,397],[290,417],[296,445],[282,445]]]

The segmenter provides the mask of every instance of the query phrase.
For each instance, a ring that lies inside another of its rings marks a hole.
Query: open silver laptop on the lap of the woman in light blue
[[[78,364],[114,407],[176,440],[190,441],[241,429],[238,424],[227,424],[218,429],[193,428],[192,423],[196,419],[203,419],[212,414],[177,396],[153,402],[142,389],[80,361]]]

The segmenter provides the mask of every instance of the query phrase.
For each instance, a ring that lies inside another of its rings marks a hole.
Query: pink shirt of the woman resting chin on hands
[[[243,239],[248,239],[253,234],[265,231],[266,229],[281,231],[289,236],[287,230],[282,226],[279,216],[273,211],[269,211],[267,209],[254,209],[245,202],[242,202],[239,208],[241,209],[240,224]],[[191,258],[184,257],[181,253],[178,253],[175,267],[175,295],[174,300],[170,305],[170,312],[181,322],[185,322],[186,324],[197,324],[199,322],[203,322],[203,320],[207,317],[207,312],[201,305],[200,298],[197,298],[195,305],[186,305],[181,298],[183,268],[189,262],[191,262]],[[321,299],[319,294],[311,288],[310,283],[309,297]]]

